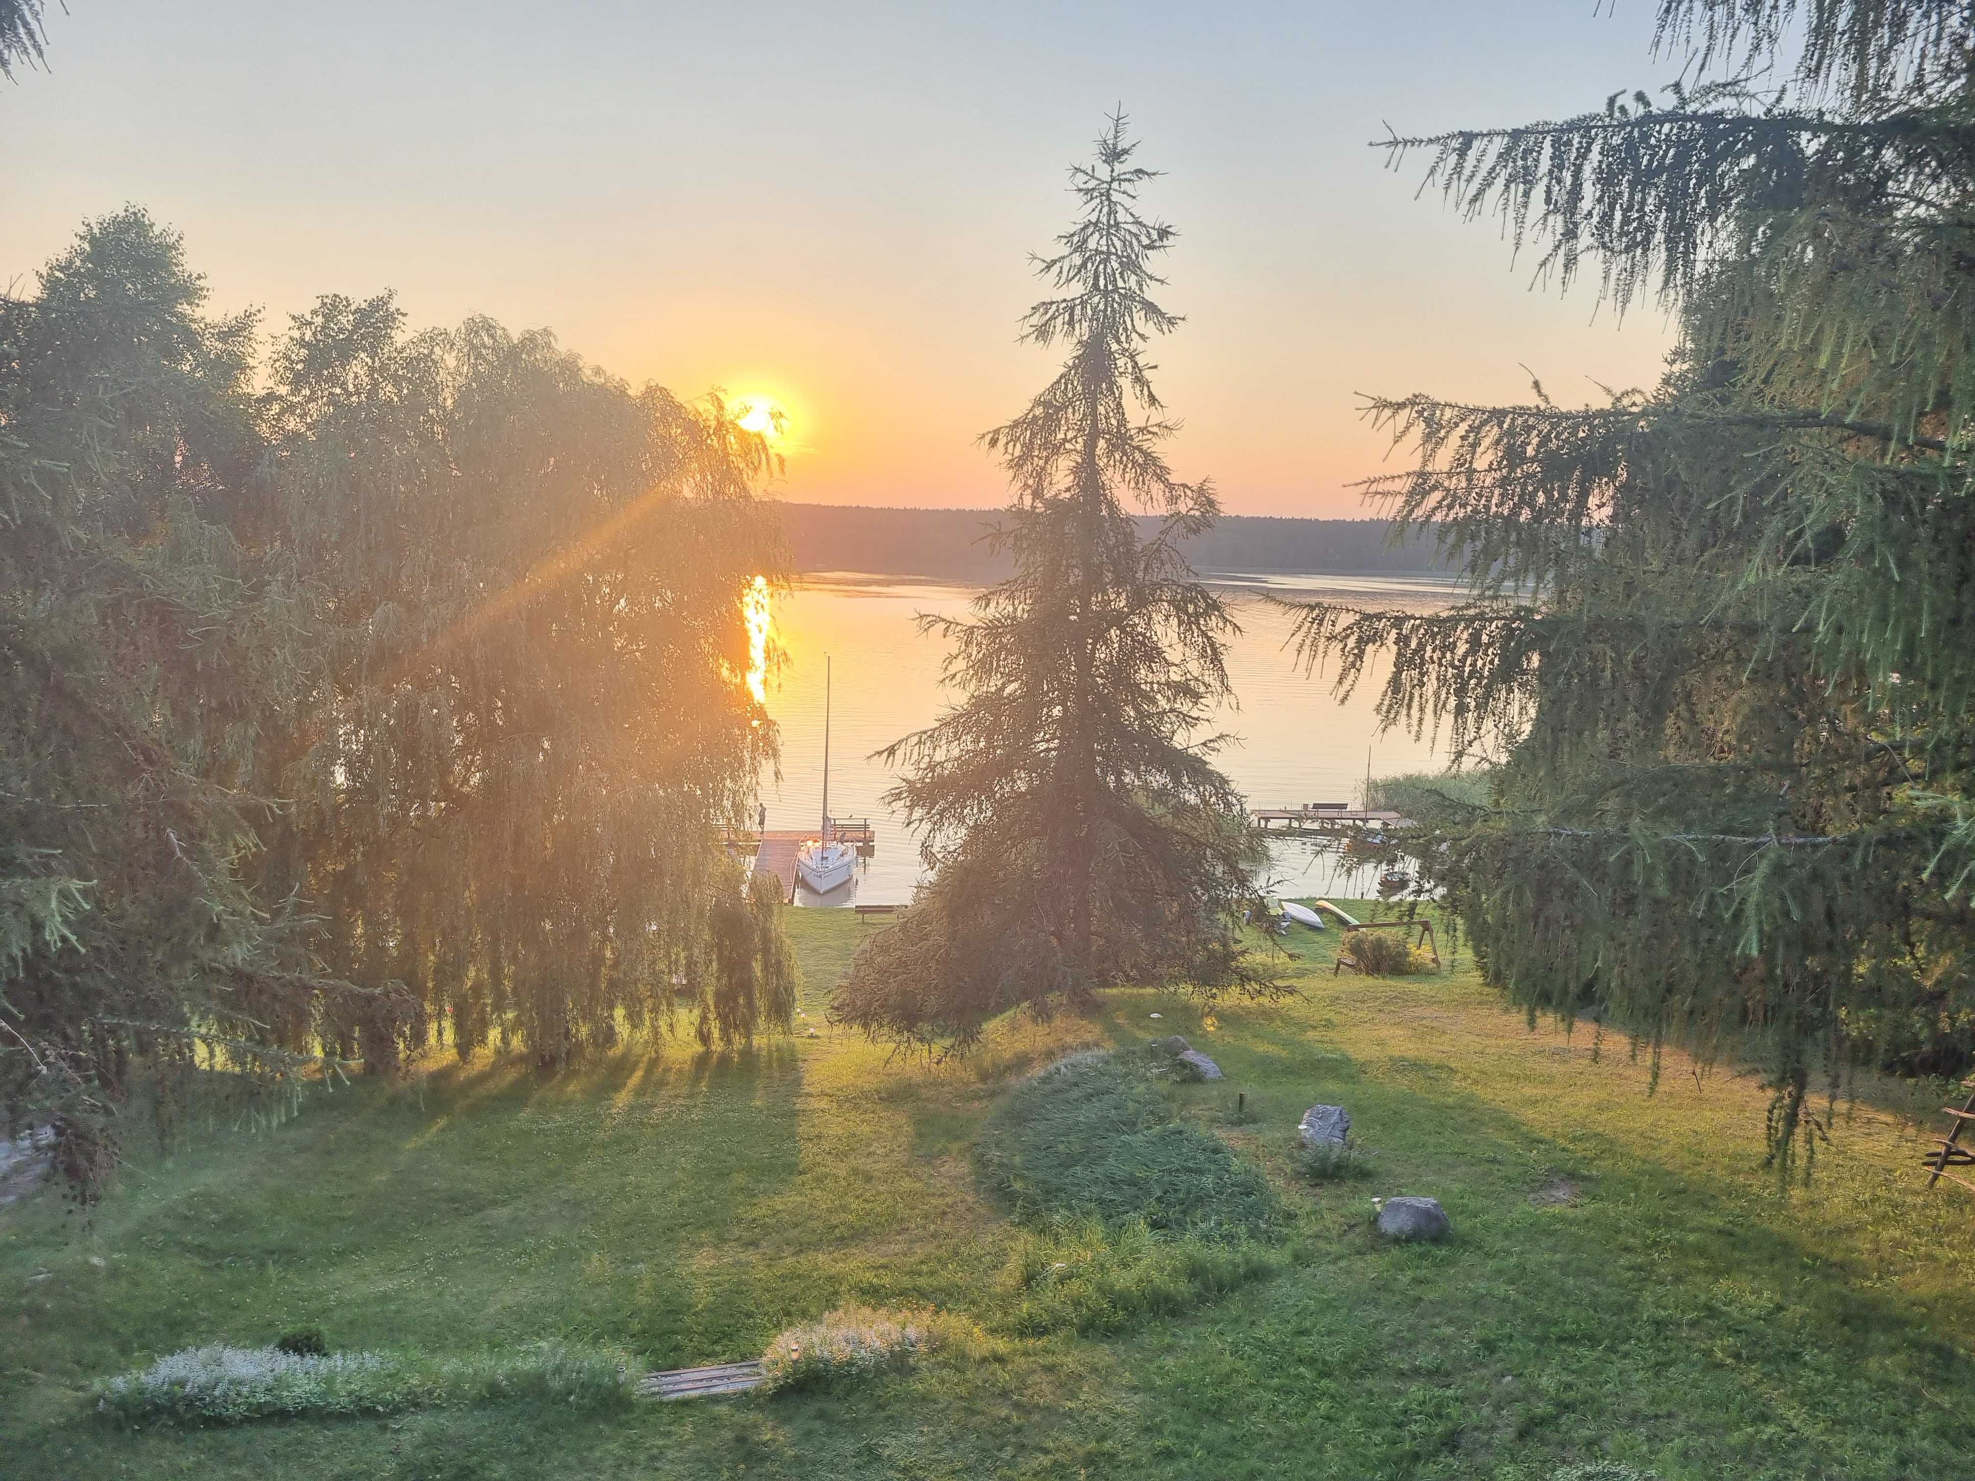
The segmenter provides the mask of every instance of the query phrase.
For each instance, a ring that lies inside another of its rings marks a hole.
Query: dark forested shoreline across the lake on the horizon
[[[867,506],[784,504],[796,571],[879,571],[1001,581],[1005,555],[982,535],[997,509],[877,509]],[[1157,521],[1140,517],[1151,531]],[[1390,543],[1384,519],[1266,519],[1223,515],[1213,529],[1187,541],[1187,559],[1201,571],[1377,571],[1432,575],[1446,571],[1432,531]]]

